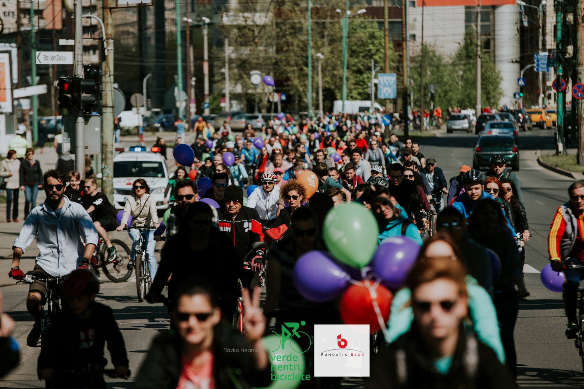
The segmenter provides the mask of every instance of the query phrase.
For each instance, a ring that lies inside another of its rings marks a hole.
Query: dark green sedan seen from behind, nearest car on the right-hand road
[[[519,170],[519,147],[510,135],[481,135],[472,154],[472,168],[481,169],[483,166],[491,166],[493,154],[503,154],[507,166],[513,170]]]

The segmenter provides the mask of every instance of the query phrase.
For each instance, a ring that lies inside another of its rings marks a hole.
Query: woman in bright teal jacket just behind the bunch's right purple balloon
[[[408,220],[408,213],[399,205],[391,203],[386,197],[377,197],[371,205],[379,224],[378,243],[391,237],[405,236],[422,245],[420,231]]]

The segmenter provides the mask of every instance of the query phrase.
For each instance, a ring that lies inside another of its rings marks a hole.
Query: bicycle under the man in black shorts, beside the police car
[[[116,256],[114,259],[107,260],[107,245],[102,238],[99,238],[98,245],[91,256],[91,270],[99,277],[99,269],[103,270],[103,274],[113,282],[127,281],[132,275],[132,271],[128,270],[126,265],[130,260],[130,249],[120,239],[111,240],[113,247],[116,249]],[[85,246],[85,245],[84,245]]]

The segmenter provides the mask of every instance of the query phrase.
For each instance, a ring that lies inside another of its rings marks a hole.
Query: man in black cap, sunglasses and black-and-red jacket
[[[224,211],[219,216],[219,230],[230,237],[242,264],[252,251],[252,244],[263,242],[262,222],[258,211],[244,207],[244,192],[237,185],[230,185],[223,196]],[[263,251],[252,253],[252,270],[244,270],[244,287],[250,288],[253,273],[263,266]]]

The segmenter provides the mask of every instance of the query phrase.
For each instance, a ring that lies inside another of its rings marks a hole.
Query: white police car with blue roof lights
[[[152,150],[155,151],[155,150]],[[113,202],[116,209],[124,209],[126,198],[134,180],[143,178],[150,186],[150,194],[156,200],[158,210],[168,209],[164,203],[168,186],[166,160],[158,152],[147,151],[144,146],[130,147],[113,159]]]

